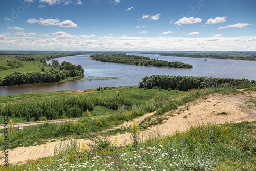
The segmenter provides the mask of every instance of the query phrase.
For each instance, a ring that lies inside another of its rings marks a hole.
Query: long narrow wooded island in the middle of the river
[[[93,60],[102,62],[122,63],[127,65],[138,66],[154,66],[154,67],[174,67],[174,68],[192,68],[192,65],[182,62],[169,62],[158,59],[151,59],[149,57],[126,55],[126,54],[96,54],[91,55]]]

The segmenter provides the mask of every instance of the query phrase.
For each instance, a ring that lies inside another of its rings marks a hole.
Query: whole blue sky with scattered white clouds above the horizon
[[[254,0],[0,4],[0,50],[256,50]]]

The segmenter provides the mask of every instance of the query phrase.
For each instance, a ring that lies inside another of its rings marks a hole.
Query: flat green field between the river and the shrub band
[[[181,91],[179,90],[172,90],[172,91],[159,91],[157,89],[139,89],[138,86],[129,86],[129,87],[102,87],[100,91],[97,89],[87,89],[87,92],[79,93],[79,92],[72,92],[72,91],[55,91],[55,92],[37,92],[37,93],[22,93],[22,94],[12,94],[12,95],[0,95],[0,106],[8,105],[7,102],[12,102],[12,104],[19,103],[19,102],[29,102],[29,103],[44,103],[47,101],[52,100],[62,100],[68,98],[92,98],[92,97],[99,97],[99,98],[111,98],[111,97],[120,97],[127,102],[131,103],[131,105],[143,105],[152,98],[156,93],[164,93],[168,96],[179,96]],[[89,94],[88,94],[89,93]],[[2,104],[1,104],[2,103]],[[101,116],[105,114],[115,113],[108,108],[104,108],[103,106],[97,106],[92,111],[93,116]],[[86,112],[83,112],[84,116],[87,116]],[[3,116],[0,116],[2,119]],[[9,117],[10,119],[10,117]],[[24,117],[15,117],[12,118],[15,123],[26,122],[26,118]],[[30,121],[34,121],[33,118]]]

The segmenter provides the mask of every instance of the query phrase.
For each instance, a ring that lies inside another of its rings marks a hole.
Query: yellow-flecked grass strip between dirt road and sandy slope
[[[39,126],[24,127],[23,130],[9,132],[10,148],[18,146],[29,146],[32,144],[46,143],[47,140],[69,135],[79,135],[80,138],[87,137],[91,133],[97,133],[109,129],[123,121],[129,121],[142,116],[147,112],[156,111],[154,115],[162,115],[169,110],[193,101],[199,97],[215,92],[233,91],[230,88],[207,88],[191,90],[181,93],[179,97],[156,94],[145,105],[133,105],[131,107],[121,106],[114,114],[99,116],[90,119],[65,122],[63,124],[45,123]],[[160,99],[160,100],[159,100]],[[0,144],[4,140],[0,139]],[[2,145],[1,148],[4,148]]]

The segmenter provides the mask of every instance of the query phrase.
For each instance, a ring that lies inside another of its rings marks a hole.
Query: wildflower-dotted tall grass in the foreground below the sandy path
[[[254,122],[222,125],[198,123],[185,132],[155,136],[137,144],[81,150],[72,141],[53,157],[1,170],[254,170]],[[225,166],[225,167],[223,167]]]

